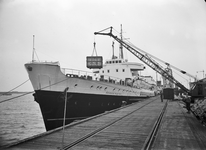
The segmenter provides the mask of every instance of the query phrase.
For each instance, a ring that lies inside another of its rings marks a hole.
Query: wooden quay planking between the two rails
[[[155,101],[72,149],[141,149],[164,104]]]

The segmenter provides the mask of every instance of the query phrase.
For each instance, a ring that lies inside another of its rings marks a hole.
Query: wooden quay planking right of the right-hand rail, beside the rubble
[[[188,122],[189,120],[191,120],[192,125]],[[195,128],[193,129],[192,126]],[[180,104],[170,102],[153,149],[205,149],[206,138],[201,141],[197,132],[205,135],[206,128],[198,122],[192,113],[187,114]]]

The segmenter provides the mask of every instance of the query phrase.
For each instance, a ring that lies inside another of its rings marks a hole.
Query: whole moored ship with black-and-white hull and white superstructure
[[[61,68],[59,62],[32,60],[25,64],[47,131],[155,96],[155,82],[140,75],[143,64],[114,53],[104,64],[102,60],[87,57],[91,72]],[[101,67],[95,68],[94,61]]]

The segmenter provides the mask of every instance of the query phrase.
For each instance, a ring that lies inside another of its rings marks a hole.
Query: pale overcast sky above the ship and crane
[[[94,41],[104,61],[112,55],[113,39],[94,32],[110,26],[120,31],[121,24],[123,36],[138,48],[199,79],[201,71],[206,74],[204,0],[0,0],[0,91],[28,79],[24,64],[32,60],[33,35],[36,60],[90,71],[86,56],[92,55]],[[118,47],[115,42],[117,56]],[[127,50],[124,56],[141,63]],[[149,67],[142,74],[156,79]],[[185,86],[193,81],[173,74]],[[33,89],[27,82],[17,90]]]

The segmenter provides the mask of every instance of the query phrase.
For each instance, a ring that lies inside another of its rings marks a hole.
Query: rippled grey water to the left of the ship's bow
[[[15,97],[0,96],[0,101]],[[32,94],[0,103],[0,147],[45,132],[41,111]]]

